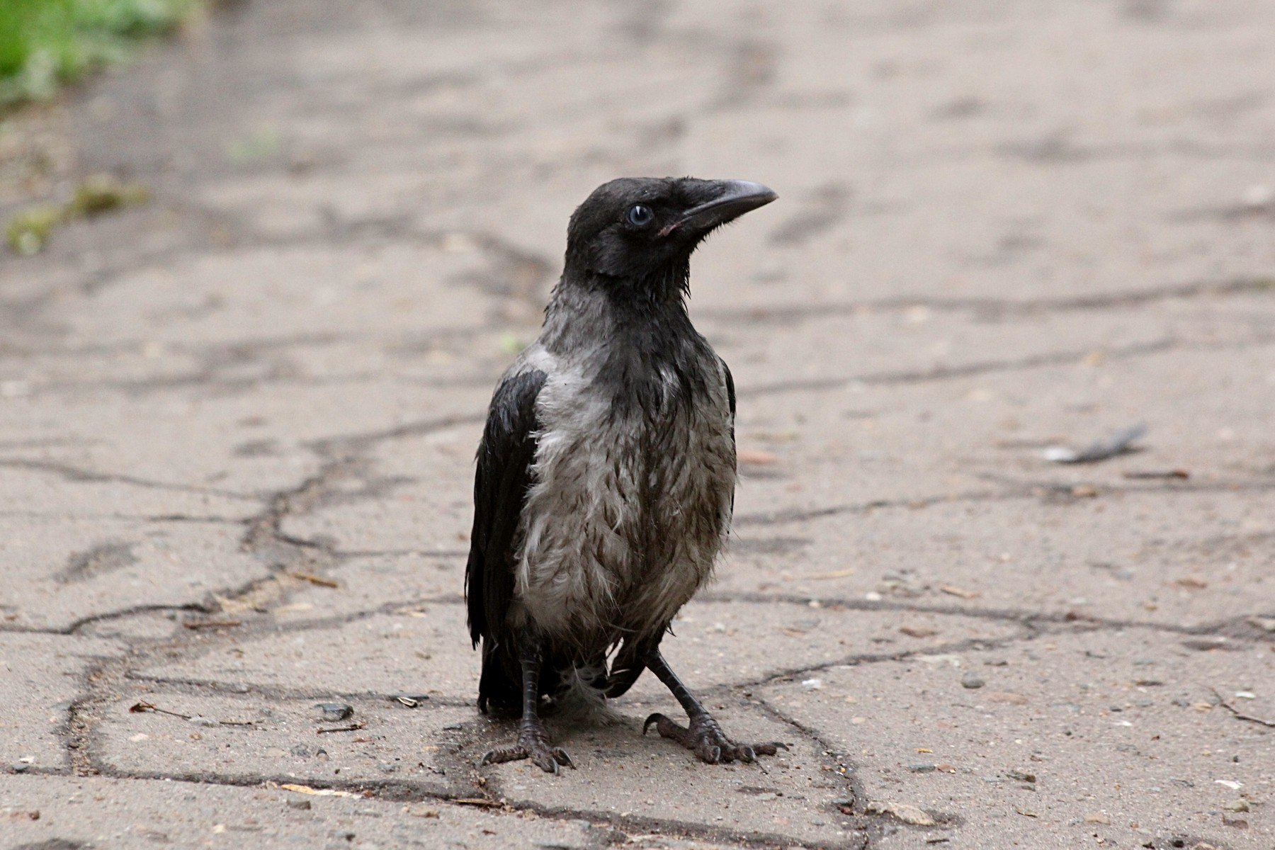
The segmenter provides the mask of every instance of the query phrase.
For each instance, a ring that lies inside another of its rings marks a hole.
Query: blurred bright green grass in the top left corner
[[[0,111],[54,97],[143,38],[171,32],[198,0],[0,0]]]

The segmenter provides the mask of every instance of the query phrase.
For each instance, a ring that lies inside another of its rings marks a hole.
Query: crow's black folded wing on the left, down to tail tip
[[[515,538],[536,459],[536,396],[544,377],[538,370],[521,372],[496,387],[478,445],[465,598],[469,637],[476,646],[483,641],[481,706],[510,700],[516,705],[520,691],[514,636],[505,619],[514,598]]]

